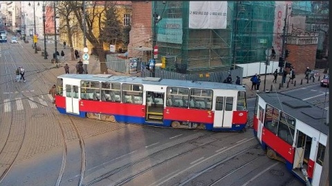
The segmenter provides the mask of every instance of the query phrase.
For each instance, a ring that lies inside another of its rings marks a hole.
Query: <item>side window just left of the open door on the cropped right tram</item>
[[[280,121],[278,127],[278,136],[286,141],[289,145],[293,145],[293,139],[295,134],[295,118],[285,114],[280,113]]]

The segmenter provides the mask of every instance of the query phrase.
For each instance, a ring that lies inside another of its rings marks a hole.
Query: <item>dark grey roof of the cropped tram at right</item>
[[[326,110],[282,93],[261,92],[258,95],[266,103],[327,135],[329,127],[326,125],[326,116],[329,113]],[[325,113],[323,114],[323,112]]]

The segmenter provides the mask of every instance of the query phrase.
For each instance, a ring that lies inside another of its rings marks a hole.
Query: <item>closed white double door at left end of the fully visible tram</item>
[[[76,85],[66,85],[66,112],[80,114],[78,86]]]

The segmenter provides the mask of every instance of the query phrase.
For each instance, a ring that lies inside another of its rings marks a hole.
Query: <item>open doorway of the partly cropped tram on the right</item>
[[[297,132],[297,143],[294,156],[293,169],[300,168],[300,163],[304,166],[304,169],[308,168],[308,161],[311,151],[312,138],[306,136],[301,131]]]

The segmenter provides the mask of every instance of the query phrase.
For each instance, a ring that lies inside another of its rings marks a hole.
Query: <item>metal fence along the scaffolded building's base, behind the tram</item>
[[[136,74],[140,72],[142,77],[151,77],[152,72],[145,68],[145,62],[139,61],[138,59],[122,59],[122,54],[107,54],[107,68],[122,72],[124,74]],[[228,77],[228,74],[232,75],[232,81],[235,83],[237,76],[240,77],[242,83],[243,68],[236,66],[234,70],[228,70],[223,72],[209,72],[204,74],[181,74],[177,72],[171,72],[167,70],[155,70],[155,77],[163,79],[181,79],[187,81],[211,81],[223,83]]]

